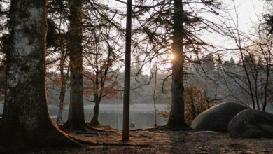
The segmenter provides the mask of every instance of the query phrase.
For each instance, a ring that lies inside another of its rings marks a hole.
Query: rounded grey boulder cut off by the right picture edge
[[[230,121],[228,132],[231,137],[273,138],[273,114],[246,109]]]

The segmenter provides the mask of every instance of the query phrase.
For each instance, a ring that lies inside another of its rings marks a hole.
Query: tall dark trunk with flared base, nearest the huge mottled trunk
[[[70,104],[67,122],[62,127],[69,131],[86,131],[90,126],[85,122],[83,109],[83,12],[82,1],[69,0],[70,5]]]

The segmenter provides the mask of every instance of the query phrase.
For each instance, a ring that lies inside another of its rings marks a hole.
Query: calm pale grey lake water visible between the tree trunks
[[[158,104],[158,111],[165,111],[167,106]],[[101,104],[99,106],[99,123],[102,125],[112,125],[118,129],[123,127],[123,104]],[[57,106],[48,106],[48,110],[53,120],[56,120]],[[67,120],[69,106],[64,107],[63,120]],[[0,104],[0,113],[3,111],[3,104]],[[93,106],[85,106],[85,120],[90,122],[93,116]],[[165,118],[158,118],[158,125],[165,125]],[[137,128],[153,127],[155,116],[153,105],[135,104],[130,106],[130,122],[134,122]]]

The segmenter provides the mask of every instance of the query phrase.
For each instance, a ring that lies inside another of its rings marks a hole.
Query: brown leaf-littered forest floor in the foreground
[[[130,132],[130,141],[124,142],[120,130],[100,128],[106,131],[71,134],[91,141],[92,146],[29,153],[273,153],[273,139],[233,139],[211,131],[134,130]]]

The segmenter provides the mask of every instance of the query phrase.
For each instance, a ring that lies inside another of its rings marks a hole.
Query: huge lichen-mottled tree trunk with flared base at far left
[[[45,97],[44,0],[12,0],[10,50],[0,144],[7,147],[76,145],[58,130]]]

